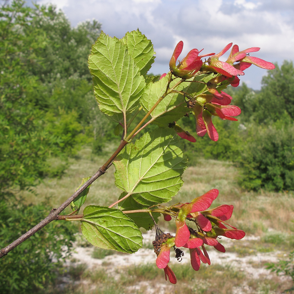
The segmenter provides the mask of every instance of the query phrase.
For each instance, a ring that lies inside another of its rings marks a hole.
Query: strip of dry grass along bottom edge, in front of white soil
[[[173,265],[178,283],[172,285],[164,280],[163,270],[153,264],[135,267],[117,268],[117,278],[107,273],[104,268],[85,270],[79,276],[80,283],[68,285],[64,294],[274,294],[282,293],[291,284],[288,280],[281,283],[275,276],[262,275],[258,280],[248,278],[240,270],[225,265],[202,266],[195,273],[190,265]],[[74,273],[73,269],[70,275]],[[57,292],[58,293],[58,292]]]

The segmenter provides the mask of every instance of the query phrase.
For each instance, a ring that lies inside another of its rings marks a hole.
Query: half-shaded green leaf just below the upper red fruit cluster
[[[176,78],[171,82],[170,87],[180,80],[180,78]],[[146,86],[144,94],[140,98],[140,103],[143,106],[145,112],[148,112],[149,109],[156,103],[158,98],[160,98],[165,93],[167,84],[168,76],[165,76],[161,80],[155,83],[149,83]],[[181,91],[185,86],[188,85],[189,83],[183,82],[176,88],[176,90]],[[188,112],[186,106],[187,104],[183,95],[178,93],[171,93],[164,97],[156,109],[152,111],[151,117],[157,118],[155,123],[157,123],[159,126],[167,126],[168,123],[177,121]]]

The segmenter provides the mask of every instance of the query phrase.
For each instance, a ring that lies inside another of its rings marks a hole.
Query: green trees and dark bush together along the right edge
[[[230,90],[233,104],[242,109],[240,121],[247,128],[239,156],[232,158],[241,168],[239,183],[249,190],[293,190],[293,62],[276,65],[262,84],[260,92],[245,84]]]

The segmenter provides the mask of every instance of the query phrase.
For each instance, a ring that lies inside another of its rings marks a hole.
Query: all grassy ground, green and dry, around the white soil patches
[[[65,174],[61,178],[47,178],[36,187],[36,194],[22,192],[21,196],[27,202],[39,203],[47,201],[49,208],[59,206],[80,185],[81,179],[93,175],[104,161],[111,155],[112,146],[99,156],[91,154],[90,149],[84,149],[77,159],[72,159]],[[114,185],[114,166],[95,181],[87,197],[87,205],[106,205],[117,200],[121,190]],[[254,240],[233,240],[225,245],[227,253],[239,257],[250,257],[261,253],[275,254],[277,250],[287,253],[294,245],[294,194],[288,192],[247,192],[242,191],[237,184],[238,170],[230,162],[215,160],[198,160],[197,167],[191,166],[183,174],[181,191],[170,203],[189,202],[201,196],[206,191],[217,188],[220,193],[213,206],[233,204],[234,211],[228,223],[246,232],[246,235],[259,236]],[[58,187],[58,188],[57,188]],[[66,210],[69,213],[70,209]],[[82,210],[81,210],[82,212]],[[174,220],[159,221],[166,232],[175,232]],[[225,238],[223,238],[225,239]],[[222,241],[220,241],[222,243]],[[91,246],[83,238],[78,240],[80,246]],[[150,243],[144,243],[145,249],[153,250]],[[212,248],[211,250],[214,250]],[[210,252],[210,250],[209,250]],[[112,251],[95,248],[92,257],[103,259],[113,254]],[[226,253],[223,253],[224,256]],[[172,265],[178,283],[171,285],[164,280],[163,270],[156,268],[154,260],[150,264],[139,266],[111,268],[110,263],[102,262],[101,267],[89,270],[83,265],[71,267],[67,275],[71,283],[65,289],[47,289],[49,293],[197,293],[197,294],[229,294],[282,293],[291,288],[288,280],[281,283],[278,277],[261,276],[258,279],[246,277],[243,271],[228,265],[213,263],[210,266],[201,265],[195,272],[189,263]],[[255,264],[254,266],[263,266]],[[265,268],[265,266],[264,266]],[[150,292],[148,289],[153,289]],[[51,292],[50,292],[51,291]],[[59,291],[59,292],[58,292]],[[149,291],[149,292],[148,292]]]

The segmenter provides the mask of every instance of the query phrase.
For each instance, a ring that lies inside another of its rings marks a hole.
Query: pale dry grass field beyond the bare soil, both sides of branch
[[[81,179],[93,175],[109,157],[113,148],[101,156],[93,156],[90,149],[83,149],[78,160],[71,160],[65,175],[47,178],[36,187],[36,194],[22,192],[28,202],[44,200],[49,207],[58,207],[80,185]],[[117,200],[121,190],[114,185],[114,166],[98,178],[91,186],[87,205],[106,205]],[[220,193],[212,206],[233,204],[230,223],[247,233],[261,235],[273,229],[285,233],[294,231],[294,194],[259,193],[242,191],[237,185],[238,170],[229,162],[199,160],[197,167],[189,167],[183,174],[185,181],[181,191],[170,203],[189,202],[206,191],[217,188]]]

